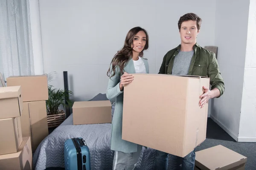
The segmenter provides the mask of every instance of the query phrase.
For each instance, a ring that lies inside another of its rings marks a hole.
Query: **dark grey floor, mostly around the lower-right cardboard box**
[[[49,133],[51,133],[53,130],[54,128],[49,129]],[[210,118],[208,118],[207,122],[206,138],[207,139],[196,148],[196,151],[221,144],[224,147],[234,150],[235,152],[247,157],[245,170],[256,169],[256,143],[236,142]],[[64,168],[47,168],[46,170],[64,170]]]

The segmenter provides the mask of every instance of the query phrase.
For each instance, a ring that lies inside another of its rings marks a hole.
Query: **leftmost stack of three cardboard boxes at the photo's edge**
[[[0,169],[31,170],[30,140],[22,138],[20,118],[23,112],[20,86],[0,88]],[[26,150],[24,152],[23,150]],[[22,156],[20,156],[22,155]],[[26,166],[23,166],[26,162]]]

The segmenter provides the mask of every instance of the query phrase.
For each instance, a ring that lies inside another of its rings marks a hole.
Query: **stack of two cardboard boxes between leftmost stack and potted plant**
[[[48,82],[46,75],[9,77],[7,86],[19,85],[23,97],[23,112],[20,117],[23,137],[30,137],[32,152],[49,134],[47,124],[46,100]]]

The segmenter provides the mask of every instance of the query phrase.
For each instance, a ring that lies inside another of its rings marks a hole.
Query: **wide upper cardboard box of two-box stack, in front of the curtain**
[[[23,102],[48,100],[47,75],[13,76],[6,81],[7,86],[21,86]]]

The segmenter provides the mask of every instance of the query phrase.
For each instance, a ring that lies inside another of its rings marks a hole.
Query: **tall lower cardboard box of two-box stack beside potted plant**
[[[23,107],[21,116],[23,137],[31,137],[32,152],[35,152],[38,145],[49,135],[46,102],[23,102]]]

